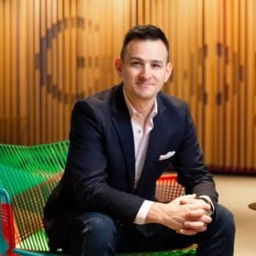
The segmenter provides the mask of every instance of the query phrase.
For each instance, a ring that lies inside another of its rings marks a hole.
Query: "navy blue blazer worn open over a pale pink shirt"
[[[155,181],[170,164],[187,193],[208,195],[217,204],[187,103],[164,92],[156,99],[158,113],[135,189],[133,129],[123,84],[74,105],[67,165],[45,207],[44,224],[52,248],[60,246],[74,216],[84,211],[132,223],[144,199],[154,199]],[[170,151],[176,154],[159,160]]]

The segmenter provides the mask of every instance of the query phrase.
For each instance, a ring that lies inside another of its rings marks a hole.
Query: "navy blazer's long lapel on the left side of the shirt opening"
[[[135,156],[131,117],[123,97],[123,87],[118,87],[112,103],[112,123],[118,133],[128,174],[130,190],[134,190]]]

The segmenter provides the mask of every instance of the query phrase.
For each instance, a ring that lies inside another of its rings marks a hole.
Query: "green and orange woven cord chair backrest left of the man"
[[[12,198],[11,206],[1,202],[2,213],[13,209],[16,247],[48,251],[43,206],[62,176],[68,146],[66,141],[36,146],[0,144],[0,187]]]

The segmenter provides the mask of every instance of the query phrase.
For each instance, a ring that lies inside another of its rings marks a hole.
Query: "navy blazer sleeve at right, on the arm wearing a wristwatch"
[[[213,177],[205,165],[195,124],[187,104],[184,134],[172,164],[178,172],[178,182],[186,187],[187,194],[196,193],[197,197],[206,195],[215,206],[217,205],[218,193]]]

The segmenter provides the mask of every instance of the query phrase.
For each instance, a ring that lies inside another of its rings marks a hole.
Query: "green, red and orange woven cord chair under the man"
[[[35,146],[0,144],[1,255],[55,255],[49,251],[43,229],[43,208],[63,174],[68,147],[67,141]],[[176,176],[167,175],[157,181],[155,193],[159,200],[168,201],[179,196],[182,189]],[[129,255],[195,253],[195,247],[189,247]]]

